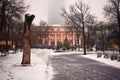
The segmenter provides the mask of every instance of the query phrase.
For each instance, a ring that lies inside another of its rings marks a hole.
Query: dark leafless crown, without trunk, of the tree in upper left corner
[[[29,6],[24,4],[23,0],[1,0],[0,1],[0,21],[2,24],[6,23],[6,27],[11,23],[22,19]],[[2,26],[4,27],[4,26]]]

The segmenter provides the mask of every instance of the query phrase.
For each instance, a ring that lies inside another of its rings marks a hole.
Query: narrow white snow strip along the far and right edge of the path
[[[109,53],[111,53],[111,51],[109,51]],[[103,56],[101,58],[97,58],[97,54],[95,51],[87,51],[87,55],[83,55],[83,52],[80,51],[68,51],[68,52],[52,52],[51,55],[64,55],[64,54],[80,54],[80,56],[85,57],[85,58],[89,58],[89,59],[93,59],[96,60],[98,62],[102,62],[105,63],[107,65],[116,67],[116,68],[120,68],[120,62],[118,62],[117,60],[110,60],[110,59],[106,59],[103,58]]]

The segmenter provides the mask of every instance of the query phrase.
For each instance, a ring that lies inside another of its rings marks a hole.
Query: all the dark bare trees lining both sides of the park
[[[22,37],[22,16],[28,8],[29,6],[24,3],[24,0],[0,0],[0,36],[4,35],[6,45],[8,45],[10,37],[11,39],[15,35]],[[80,35],[83,36],[82,46],[77,46],[84,48],[84,54],[95,44],[100,45],[99,48],[103,52],[104,49],[111,48],[113,44],[120,44],[120,0],[108,0],[108,4],[104,6],[103,10],[107,22],[99,22],[91,13],[89,4],[81,0],[70,5],[69,10],[62,9],[61,16],[64,17],[65,24],[70,25],[68,29],[71,32],[76,31],[78,39]],[[46,32],[48,28],[44,25],[47,23],[41,21],[39,26],[43,26]],[[31,28],[33,28],[34,36],[39,36],[37,27],[33,25]],[[22,38],[19,39],[21,40],[17,41],[18,38],[15,40],[18,44],[22,41]],[[79,44],[79,40],[77,43]]]

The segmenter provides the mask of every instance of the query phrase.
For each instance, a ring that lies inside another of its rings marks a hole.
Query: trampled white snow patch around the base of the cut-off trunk
[[[22,52],[0,57],[0,80],[51,80],[53,69],[37,56],[42,54],[40,51],[31,50],[30,66],[21,66]],[[47,57],[45,54],[42,55],[44,58]]]

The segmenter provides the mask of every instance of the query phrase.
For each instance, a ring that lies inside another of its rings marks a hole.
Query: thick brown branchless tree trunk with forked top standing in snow
[[[31,42],[30,42],[30,27],[34,19],[34,15],[25,15],[24,22],[24,40],[23,40],[23,58],[21,64],[30,64],[30,52],[31,52]]]

